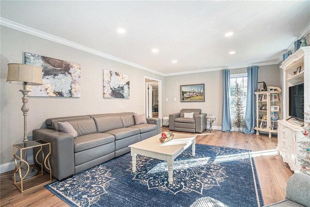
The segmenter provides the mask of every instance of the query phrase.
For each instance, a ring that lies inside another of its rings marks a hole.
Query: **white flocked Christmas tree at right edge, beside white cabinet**
[[[299,144],[300,150],[298,154],[298,160],[301,163],[301,172],[310,175],[310,106],[307,112],[305,112],[305,126],[303,134],[305,140]]]

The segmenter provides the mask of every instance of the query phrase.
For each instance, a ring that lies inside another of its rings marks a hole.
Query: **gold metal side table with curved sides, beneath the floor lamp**
[[[37,161],[38,164],[41,165],[41,173],[36,175],[36,176],[34,176],[34,177],[25,179],[27,174],[29,173],[30,166],[29,166],[29,163],[23,159],[23,154],[24,154],[25,150],[28,150],[28,149],[31,149],[31,148],[34,148],[34,147],[40,147],[39,151],[35,155],[35,160]],[[47,149],[48,149],[48,154],[47,154],[46,157],[45,157],[44,152],[43,152],[43,147],[47,147]],[[19,151],[19,156],[16,154],[18,151]],[[42,162],[40,162],[38,160],[38,155],[40,154],[40,152],[41,152],[41,155],[42,155]],[[31,141],[31,142],[26,142],[26,143],[19,143],[19,144],[14,144],[13,145],[13,156],[14,156],[14,159],[15,159],[14,185],[16,186],[16,188],[19,191],[21,191],[21,192],[29,191],[29,190],[31,190],[33,188],[45,185],[45,184],[47,184],[47,183],[52,181],[52,169],[51,169],[50,163],[49,163],[50,155],[51,155],[51,145],[50,145],[49,142],[46,142],[44,140],[36,140],[36,141]],[[19,160],[19,164],[17,163],[17,160]],[[22,163],[24,163],[27,166],[27,173],[25,175],[21,174]],[[43,183],[40,183],[40,184],[35,184],[35,186],[33,186],[33,187],[29,188],[29,189],[24,190],[24,184],[25,184],[26,181],[31,182],[30,180],[32,180],[34,178],[38,178],[39,176],[43,177],[43,165],[49,171],[49,180],[45,181]],[[16,182],[16,173],[19,174],[19,177],[20,177],[20,181],[19,182]]]

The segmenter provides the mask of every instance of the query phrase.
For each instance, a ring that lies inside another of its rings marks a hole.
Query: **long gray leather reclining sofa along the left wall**
[[[61,180],[102,162],[124,155],[128,145],[160,134],[160,119],[146,118],[135,125],[133,112],[50,118],[47,128],[35,129],[33,140],[51,143],[52,175]],[[58,131],[57,122],[69,122],[78,137]],[[34,149],[34,155],[38,151]],[[39,159],[39,161],[41,161]]]

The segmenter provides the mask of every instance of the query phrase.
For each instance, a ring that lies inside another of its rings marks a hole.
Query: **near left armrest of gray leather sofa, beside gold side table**
[[[74,175],[74,142],[72,135],[53,129],[40,128],[34,129],[32,136],[33,140],[45,140],[51,143],[52,151],[49,159],[54,177],[61,180]]]

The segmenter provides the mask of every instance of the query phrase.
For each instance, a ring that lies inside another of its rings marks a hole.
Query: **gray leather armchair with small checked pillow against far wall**
[[[184,118],[184,113],[194,112],[194,118]],[[169,128],[173,131],[202,133],[207,127],[206,113],[201,109],[182,109],[169,115]]]

